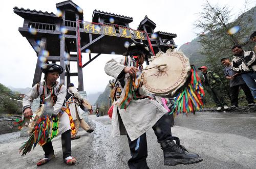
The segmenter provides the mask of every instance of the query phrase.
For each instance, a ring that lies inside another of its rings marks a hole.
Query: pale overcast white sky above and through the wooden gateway
[[[29,8],[30,10],[41,10],[56,13],[56,3],[61,1],[5,1],[0,7],[0,83],[15,88],[26,88],[32,86],[36,53],[29,42],[18,32],[18,27],[23,26],[24,19],[13,12],[13,7]],[[83,9],[84,21],[92,21],[92,14],[95,9],[133,17],[130,23],[132,29],[137,29],[139,22],[147,15],[157,25],[155,32],[162,31],[177,34],[174,39],[176,45],[182,44],[196,38],[197,30],[194,30],[193,23],[197,20],[198,12],[201,12],[204,0],[197,1],[73,1]],[[127,3],[129,2],[129,3]],[[243,9],[243,0],[209,0],[211,4],[227,5],[233,8],[234,14]],[[249,1],[248,8],[255,6],[256,1]],[[104,72],[104,64],[117,55],[102,54],[89,65],[83,68],[84,90],[88,94],[103,92],[110,76]],[[83,56],[83,63],[86,62],[86,55]],[[77,80],[71,79],[75,83]]]

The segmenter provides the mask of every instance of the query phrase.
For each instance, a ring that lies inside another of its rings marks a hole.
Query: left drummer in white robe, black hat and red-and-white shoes
[[[45,73],[45,81],[37,83],[29,93],[25,94],[23,99],[23,115],[25,118],[29,118],[33,115],[31,105],[34,99],[40,97],[40,105],[45,104],[47,106],[53,106],[52,117],[59,116],[58,134],[61,134],[63,161],[68,165],[76,163],[76,159],[71,156],[71,127],[69,115],[60,109],[65,101],[66,87],[56,81],[59,74],[63,72],[63,68],[57,64],[48,64],[42,66],[42,72]],[[39,106],[39,105],[38,105]],[[51,119],[52,122],[52,119]],[[50,136],[51,134],[49,134]],[[37,165],[43,165],[53,159],[54,150],[52,142],[47,142],[42,146],[45,152],[45,158],[41,159]]]

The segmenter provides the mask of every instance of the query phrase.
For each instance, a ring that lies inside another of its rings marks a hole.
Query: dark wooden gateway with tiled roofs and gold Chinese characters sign
[[[72,1],[56,4],[57,14],[14,7],[15,14],[24,18],[18,31],[26,37],[36,52],[33,86],[41,79],[41,65],[60,62],[65,73],[62,83],[69,83],[71,76],[78,78],[78,90],[83,91],[82,68],[100,54],[122,54],[127,44],[142,42],[150,46],[152,54],[176,48],[176,34],[154,32],[156,23],[147,16],[137,30],[130,28],[132,17],[94,10],[92,21],[83,21],[83,10]],[[76,54],[70,54],[76,52]],[[81,52],[89,52],[89,61],[82,65]],[[91,57],[91,53],[97,53]],[[77,62],[77,72],[71,72],[70,62]],[[65,77],[66,80],[65,81]]]

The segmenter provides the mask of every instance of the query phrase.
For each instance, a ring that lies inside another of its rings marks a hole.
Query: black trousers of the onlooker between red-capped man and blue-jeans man
[[[246,100],[248,101],[248,103],[254,103],[254,101],[253,101],[254,99],[251,94],[251,91],[250,91],[249,87],[246,85],[246,83],[244,83],[241,85],[236,85],[236,86],[230,87],[231,105],[238,106],[239,87],[241,87],[242,90],[244,91]]]

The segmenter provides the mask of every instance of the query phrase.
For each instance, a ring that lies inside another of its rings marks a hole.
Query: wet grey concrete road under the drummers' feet
[[[110,137],[111,121],[108,116],[89,116],[93,133],[80,129],[80,139],[72,141],[75,166],[62,162],[61,140],[53,140],[56,158],[40,168],[128,168],[130,151],[127,137]],[[163,152],[153,130],[147,132],[150,168],[256,168],[256,112],[231,114],[230,112],[197,112],[196,116],[179,115],[172,127],[174,136],[189,151],[198,153],[203,161],[191,165],[163,165]],[[43,157],[40,146],[20,157],[18,148],[27,138],[18,133],[0,135],[1,168],[36,168]]]

